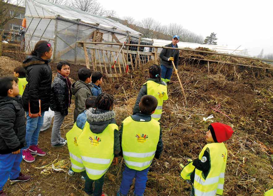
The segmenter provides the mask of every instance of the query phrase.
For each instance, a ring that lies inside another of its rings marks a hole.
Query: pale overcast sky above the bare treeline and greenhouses
[[[206,0],[98,0],[119,18],[136,20],[152,17],[161,24],[179,23],[184,28],[206,37],[217,33],[218,45],[242,45],[250,55],[273,53],[273,1]]]

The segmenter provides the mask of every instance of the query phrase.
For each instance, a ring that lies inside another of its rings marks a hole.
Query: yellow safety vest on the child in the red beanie
[[[227,148],[224,143],[209,143],[200,152],[199,160],[202,159],[207,148],[209,148],[210,154],[210,171],[205,179],[202,171],[195,168],[194,194],[198,196],[222,195],[227,163]]]

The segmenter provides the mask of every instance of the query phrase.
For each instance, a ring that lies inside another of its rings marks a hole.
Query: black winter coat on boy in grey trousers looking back
[[[68,86],[67,79],[58,73],[52,83],[50,109],[66,116],[68,114],[69,103],[71,103],[71,97],[72,92]]]

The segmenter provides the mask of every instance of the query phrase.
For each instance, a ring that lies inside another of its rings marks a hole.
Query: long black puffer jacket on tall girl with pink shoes
[[[30,112],[39,113],[39,100],[41,100],[41,111],[48,111],[51,93],[52,70],[49,60],[36,56],[27,56],[23,62],[26,70],[28,84],[22,96],[24,110],[28,112],[28,101]]]

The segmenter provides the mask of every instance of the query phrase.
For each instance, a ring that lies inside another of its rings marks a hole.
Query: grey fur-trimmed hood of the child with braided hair
[[[89,108],[85,114],[90,130],[95,134],[102,133],[109,124],[116,124],[114,111]]]

